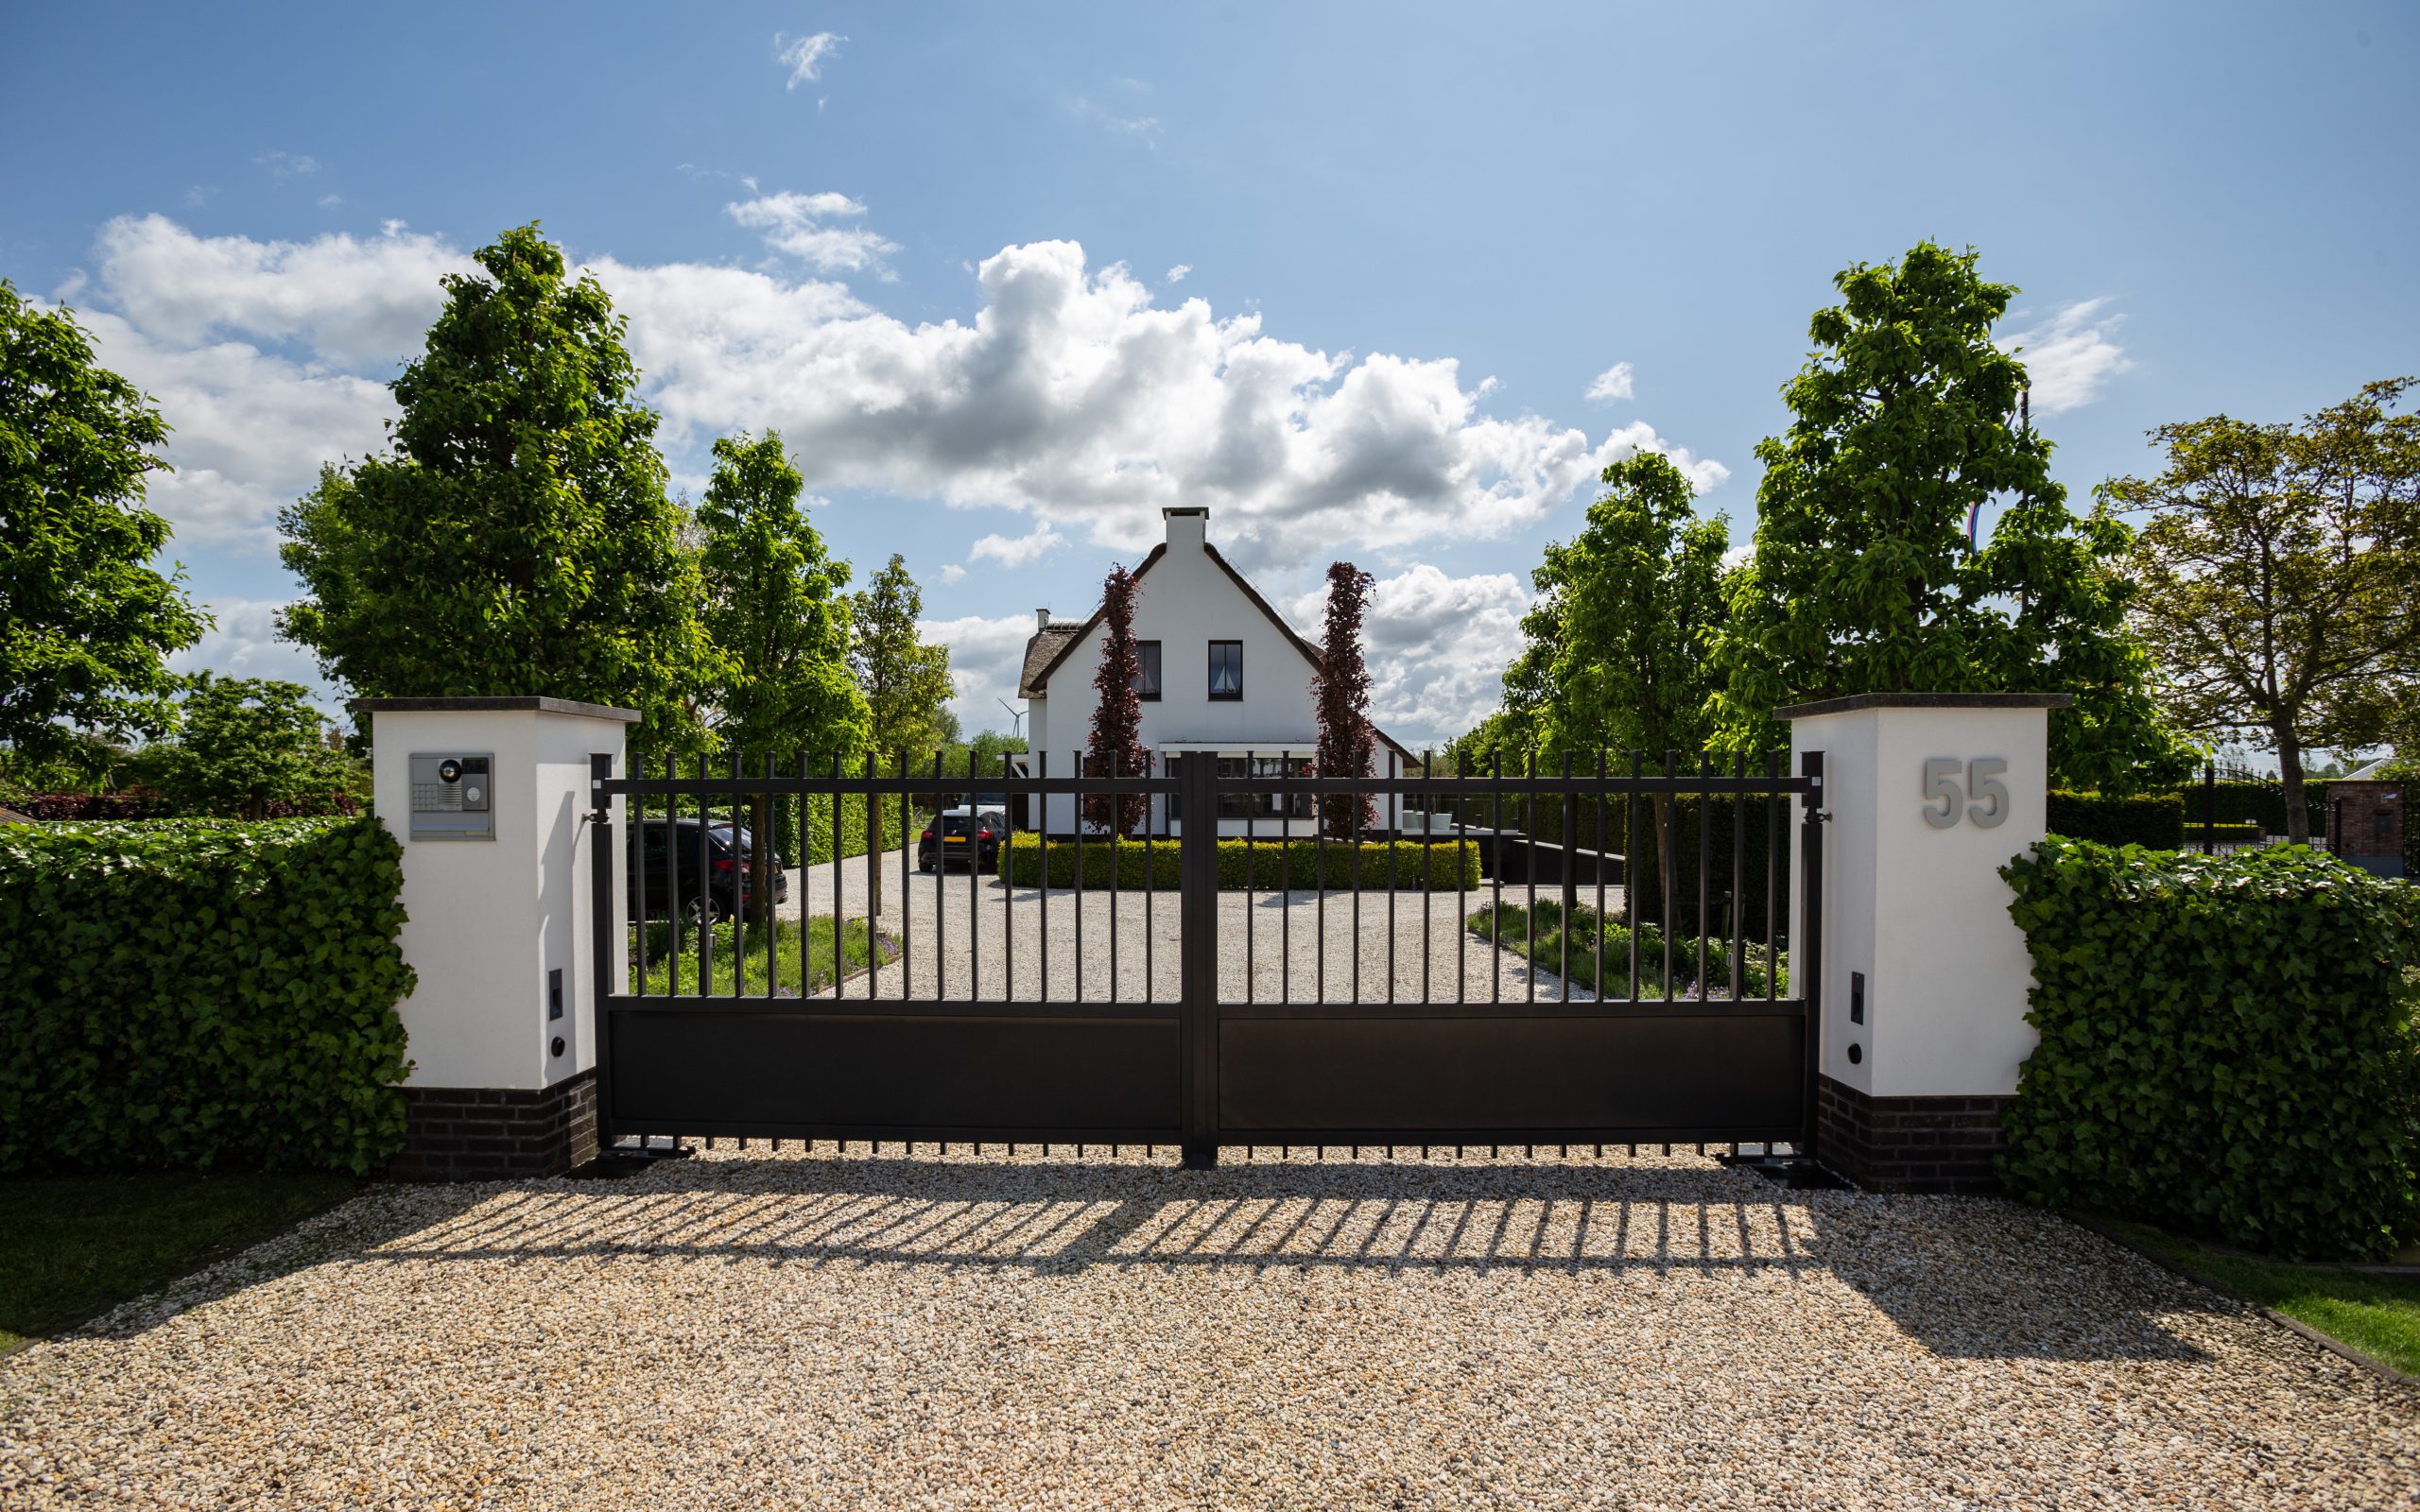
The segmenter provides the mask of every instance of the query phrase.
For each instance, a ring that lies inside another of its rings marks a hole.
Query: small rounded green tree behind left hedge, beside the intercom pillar
[[[184,694],[177,738],[140,752],[145,779],[179,813],[264,818],[271,803],[344,791],[353,762],[327,743],[327,726],[298,682],[213,677]]]

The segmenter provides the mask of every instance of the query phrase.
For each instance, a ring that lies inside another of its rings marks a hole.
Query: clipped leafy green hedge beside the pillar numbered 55
[[[2001,876],[2042,1035],[2001,1120],[2016,1195],[2265,1253],[2393,1253],[2420,1152],[2420,893],[2304,847],[2047,839]]]

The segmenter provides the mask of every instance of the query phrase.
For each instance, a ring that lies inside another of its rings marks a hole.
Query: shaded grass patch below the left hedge
[[[0,1178],[0,1350],[82,1323],[361,1190],[351,1176]]]

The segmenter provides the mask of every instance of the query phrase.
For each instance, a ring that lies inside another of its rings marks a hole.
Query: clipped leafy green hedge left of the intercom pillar
[[[402,881],[375,820],[0,827],[0,1171],[385,1161]]]

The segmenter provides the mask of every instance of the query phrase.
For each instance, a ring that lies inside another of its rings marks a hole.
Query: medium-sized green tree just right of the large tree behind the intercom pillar
[[[866,697],[849,680],[849,564],[832,561],[799,508],[803,479],[782,435],[714,443],[697,506],[702,624],[714,644],[714,733],[743,762],[849,755],[866,738]],[[772,919],[772,793],[755,796],[748,885]]]

